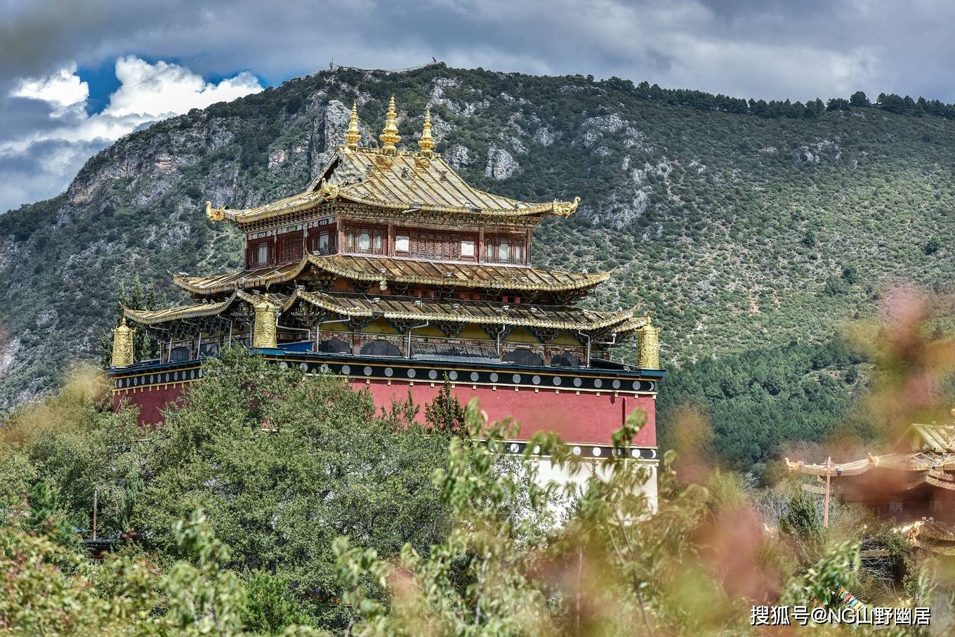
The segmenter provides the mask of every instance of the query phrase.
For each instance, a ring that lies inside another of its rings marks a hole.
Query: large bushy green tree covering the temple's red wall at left
[[[376,418],[371,395],[340,376],[303,377],[239,348],[207,360],[202,377],[145,443],[134,519],[148,547],[180,556],[168,529],[202,508],[230,568],[277,576],[311,621],[340,626],[336,537],[395,555],[447,533],[428,478],[446,437]]]

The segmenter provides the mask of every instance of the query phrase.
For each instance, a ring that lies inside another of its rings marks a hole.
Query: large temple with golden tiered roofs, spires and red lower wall
[[[409,389],[430,402],[448,378],[462,403],[477,396],[492,419],[517,418],[522,438],[554,431],[595,459],[642,408],[633,455],[655,465],[658,328],[633,310],[577,307],[609,272],[531,265],[535,225],[578,201],[520,202],[468,185],[435,153],[430,115],[419,150],[400,150],[393,98],[381,146],[360,139],[355,107],[345,143],[305,192],[244,210],[206,204],[210,220],[244,233],[244,270],[176,275],[190,305],[125,309],[109,370],[116,404],[159,422],[202,378],[203,357],[243,344],[304,373],[344,374],[382,407]],[[159,359],[132,359],[134,329],[159,344]],[[612,361],[609,348],[633,337],[638,365]],[[522,440],[508,446],[523,450]]]

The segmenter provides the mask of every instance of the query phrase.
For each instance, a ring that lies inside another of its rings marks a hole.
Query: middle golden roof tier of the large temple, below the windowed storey
[[[176,285],[196,294],[215,294],[286,283],[307,265],[354,281],[388,281],[423,286],[454,286],[515,291],[584,289],[605,282],[612,272],[564,272],[521,265],[461,264],[387,257],[308,255],[295,264],[265,267],[210,277],[173,276]]]

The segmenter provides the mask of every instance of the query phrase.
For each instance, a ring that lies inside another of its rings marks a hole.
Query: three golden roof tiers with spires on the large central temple
[[[342,216],[366,214],[376,218],[384,213],[400,214],[401,219],[407,218],[412,223],[420,222],[426,226],[437,223],[439,226],[459,227],[511,224],[528,227],[544,215],[570,215],[580,202],[579,198],[573,202],[520,202],[472,187],[435,154],[430,113],[425,117],[424,130],[418,141],[420,150],[416,152],[402,151],[395,146],[400,136],[393,100],[380,137],[381,148],[358,146],[357,117],[355,106],[345,135],[346,144],[337,148],[304,192],[244,210],[216,208],[207,203],[206,214],[213,221],[230,221],[249,230],[252,224],[257,228],[267,227],[270,220],[276,225],[286,221],[306,221],[309,211],[325,202],[351,202],[365,207],[345,206],[339,208],[339,213],[330,212]],[[285,219],[280,222],[280,217]],[[552,293],[543,298],[549,303],[560,303],[574,296],[565,293],[596,286],[606,281],[610,274],[573,273],[527,265],[308,254],[295,263],[216,276],[176,274],[173,277],[176,285],[201,298],[201,303],[157,311],[127,308],[124,314],[142,325],[154,326],[220,315],[247,317],[249,308],[262,308],[263,304],[281,312],[296,304],[307,304],[342,320],[383,317],[395,323],[427,320],[437,324],[524,326],[600,333],[626,333],[646,326],[647,319],[635,316],[632,309],[595,312],[570,305],[526,303],[541,298],[530,292]],[[329,279],[336,278],[364,284],[378,283],[381,290],[387,289],[390,293],[371,296],[325,291]],[[401,295],[410,286],[506,290],[517,292],[525,302],[505,304],[477,299]]]

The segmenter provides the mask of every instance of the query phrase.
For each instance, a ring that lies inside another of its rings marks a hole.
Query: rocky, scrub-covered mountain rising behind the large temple
[[[241,237],[209,223],[204,202],[300,191],[341,142],[352,100],[374,143],[392,94],[403,144],[430,105],[437,150],[478,187],[580,196],[574,217],[538,229],[536,264],[616,268],[590,303],[652,313],[677,370],[768,350],[785,366],[791,342],[827,343],[887,283],[955,276],[949,118],[848,102],[738,113],[743,100],[581,75],[338,69],[121,138],[62,195],[0,216],[0,408],[95,359],[135,277],[175,302],[167,271],[240,267]]]

